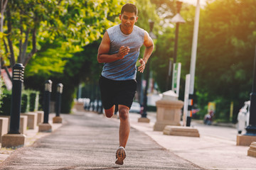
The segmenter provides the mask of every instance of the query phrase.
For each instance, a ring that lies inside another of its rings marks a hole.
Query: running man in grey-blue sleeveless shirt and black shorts
[[[144,72],[146,62],[154,50],[153,40],[149,34],[134,26],[138,21],[138,10],[134,4],[122,6],[119,19],[121,23],[107,29],[98,49],[97,61],[104,63],[100,76],[100,92],[102,104],[107,118],[114,114],[118,106],[119,148],[116,152],[116,164],[123,164],[126,157],[125,146],[130,132],[129,109],[137,89],[137,67],[139,50],[146,47],[144,57],[139,59],[139,72]]]

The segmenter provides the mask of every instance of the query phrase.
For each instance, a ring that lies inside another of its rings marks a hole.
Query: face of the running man
[[[138,16],[135,15],[135,13],[129,13],[124,11],[124,13],[119,15],[119,18],[121,20],[121,26],[124,28],[124,30],[132,30],[134,24],[138,20]]]

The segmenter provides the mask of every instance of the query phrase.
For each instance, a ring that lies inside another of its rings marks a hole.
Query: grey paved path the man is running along
[[[65,123],[58,130],[30,147],[17,149],[0,169],[202,169],[135,128],[131,129],[124,165],[116,165],[117,119],[89,112],[61,116]]]

